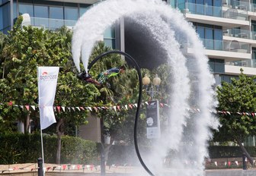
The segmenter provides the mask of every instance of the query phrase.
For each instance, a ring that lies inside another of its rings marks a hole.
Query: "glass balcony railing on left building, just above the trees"
[[[59,20],[52,18],[42,18],[42,17],[30,17],[30,23],[34,27],[42,27],[43,29],[56,30],[59,27],[75,26],[76,20]]]

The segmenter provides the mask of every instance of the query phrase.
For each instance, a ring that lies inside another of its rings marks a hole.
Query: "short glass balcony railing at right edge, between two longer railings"
[[[250,30],[239,30],[239,29],[229,29],[223,31],[224,36],[232,36],[243,39],[255,39],[256,40],[256,32]]]

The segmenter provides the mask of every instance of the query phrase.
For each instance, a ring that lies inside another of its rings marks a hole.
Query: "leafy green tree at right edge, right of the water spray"
[[[222,83],[218,87],[219,111],[232,112],[231,115],[219,115],[221,126],[214,140],[243,143],[245,137],[256,134],[256,118],[251,115],[239,115],[236,112],[256,111],[256,77],[240,74],[232,83]]]

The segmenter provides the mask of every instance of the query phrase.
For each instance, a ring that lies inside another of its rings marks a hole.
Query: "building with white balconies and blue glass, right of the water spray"
[[[169,0],[178,8],[203,41],[209,64],[219,80],[230,81],[243,68],[256,74],[256,1]]]

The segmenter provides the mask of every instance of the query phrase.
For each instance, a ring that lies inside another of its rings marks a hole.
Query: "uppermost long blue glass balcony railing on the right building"
[[[227,11],[222,11],[222,7],[199,5],[190,2],[178,4],[178,8],[184,13],[202,14],[212,17],[225,17],[237,20],[248,20],[247,11],[238,11],[238,9],[233,8],[230,8]]]

